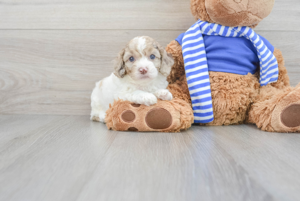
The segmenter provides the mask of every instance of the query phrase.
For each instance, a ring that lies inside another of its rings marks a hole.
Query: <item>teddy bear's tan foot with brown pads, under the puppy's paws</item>
[[[108,129],[120,131],[180,131],[180,112],[171,102],[158,100],[151,106],[118,100],[107,110]]]

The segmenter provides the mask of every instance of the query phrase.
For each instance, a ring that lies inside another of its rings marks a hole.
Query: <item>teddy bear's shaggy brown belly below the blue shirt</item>
[[[254,75],[209,72],[214,121],[207,125],[240,124],[259,87]]]

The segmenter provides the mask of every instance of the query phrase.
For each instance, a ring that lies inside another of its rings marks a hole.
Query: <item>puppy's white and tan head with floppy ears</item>
[[[114,74],[128,74],[136,82],[147,82],[158,75],[167,77],[174,60],[171,54],[152,38],[135,37],[123,48],[114,64]]]

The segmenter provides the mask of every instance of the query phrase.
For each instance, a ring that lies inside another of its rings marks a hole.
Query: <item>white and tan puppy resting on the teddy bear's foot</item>
[[[153,105],[157,99],[171,100],[167,76],[174,60],[152,38],[135,37],[119,52],[114,72],[96,83],[91,96],[91,120],[104,122],[114,100]]]

